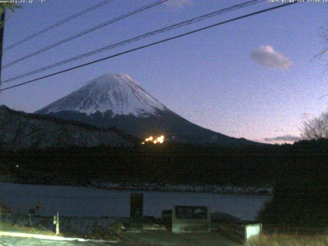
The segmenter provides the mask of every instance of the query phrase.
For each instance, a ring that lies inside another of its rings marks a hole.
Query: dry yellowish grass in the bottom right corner
[[[251,239],[249,246],[328,246],[328,235],[261,235]]]

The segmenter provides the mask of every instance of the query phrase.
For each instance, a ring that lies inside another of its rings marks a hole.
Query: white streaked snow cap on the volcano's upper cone
[[[84,87],[60,98],[36,113],[48,114],[60,111],[78,111],[91,115],[97,111],[112,111],[115,115],[147,117],[157,110],[168,110],[157,99],[142,89],[125,74],[105,74]]]

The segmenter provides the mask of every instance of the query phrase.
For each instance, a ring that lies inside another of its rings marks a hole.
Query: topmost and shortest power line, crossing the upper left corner
[[[76,13],[76,14],[74,14],[74,15],[72,15],[72,16],[66,18],[66,19],[60,20],[60,22],[57,22],[56,24],[54,24],[54,25],[52,25],[52,26],[49,26],[49,27],[47,27],[47,28],[45,28],[45,29],[42,29],[41,31],[38,31],[38,32],[36,32],[36,33],[34,33],[34,34],[32,34],[32,35],[30,35],[30,36],[28,36],[28,37],[26,37],[26,38],[24,38],[24,39],[22,39],[22,40],[17,41],[16,43],[14,43],[14,44],[12,44],[12,45],[7,46],[6,48],[4,48],[4,51],[7,51],[7,50],[9,50],[9,49],[12,49],[12,48],[14,48],[14,47],[17,46],[17,45],[20,45],[20,44],[26,42],[27,40],[32,39],[33,37],[36,37],[36,36],[38,36],[38,35],[41,35],[41,34],[47,32],[47,31],[49,31],[49,30],[51,30],[51,29],[54,29],[54,28],[56,28],[56,27],[58,27],[58,26],[60,26],[60,25],[63,25],[64,23],[69,22],[69,21],[72,20],[72,19],[77,18],[77,17],[80,16],[80,15],[83,15],[83,14],[85,14],[85,13],[88,13],[88,12],[90,12],[91,10],[94,10],[94,9],[96,9],[96,8],[99,8],[99,7],[101,7],[101,6],[105,5],[105,4],[108,4],[108,3],[113,2],[113,1],[114,1],[114,0],[105,0],[105,1],[103,1],[103,2],[100,2],[99,4],[93,5],[93,6],[91,6],[90,8],[87,8],[87,9],[85,9],[85,10],[79,12],[79,13]]]

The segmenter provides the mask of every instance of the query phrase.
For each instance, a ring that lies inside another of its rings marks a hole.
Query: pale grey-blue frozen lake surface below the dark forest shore
[[[209,206],[211,212],[223,212],[241,219],[253,220],[271,199],[267,195],[162,192],[137,190],[104,190],[71,186],[21,185],[0,183],[0,204],[13,212],[28,213],[39,202],[40,215],[61,216],[130,216],[130,194],[144,193],[144,215],[160,217],[172,205]]]

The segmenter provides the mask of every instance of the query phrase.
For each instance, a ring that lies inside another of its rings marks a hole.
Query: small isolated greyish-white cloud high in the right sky
[[[288,69],[293,64],[290,58],[275,51],[270,45],[261,45],[258,49],[253,50],[251,58],[258,64],[267,68],[278,68],[284,70]]]

